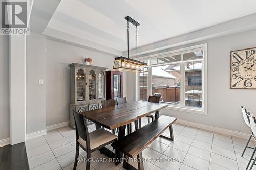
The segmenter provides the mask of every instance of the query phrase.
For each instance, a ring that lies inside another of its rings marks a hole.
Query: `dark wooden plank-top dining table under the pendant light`
[[[159,111],[168,104],[152,103],[146,101],[135,101],[124,103],[97,110],[80,112],[86,119],[95,123],[96,129],[106,128],[109,130],[118,128],[118,140],[121,141],[125,136],[127,124],[131,124],[136,120],[141,120],[148,114],[155,113],[155,119],[159,118]],[[101,148],[100,152],[109,158],[116,158],[115,154],[107,148]],[[122,153],[117,152],[116,165],[121,162]]]

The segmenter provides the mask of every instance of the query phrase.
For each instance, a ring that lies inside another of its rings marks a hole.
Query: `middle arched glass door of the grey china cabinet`
[[[96,99],[96,71],[90,70],[88,72],[88,99],[95,100]]]

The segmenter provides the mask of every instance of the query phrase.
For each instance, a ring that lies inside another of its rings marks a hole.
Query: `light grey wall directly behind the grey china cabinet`
[[[92,58],[92,65],[112,69],[114,57],[46,40],[46,125],[69,121],[70,63]]]

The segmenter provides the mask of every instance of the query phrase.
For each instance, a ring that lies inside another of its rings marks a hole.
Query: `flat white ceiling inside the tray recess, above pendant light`
[[[253,13],[255,0],[62,0],[47,27],[125,51],[127,15],[142,46]],[[135,33],[130,25],[130,48]]]

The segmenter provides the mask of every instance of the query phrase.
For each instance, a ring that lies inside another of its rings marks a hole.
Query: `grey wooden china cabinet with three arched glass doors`
[[[70,123],[75,128],[73,111],[83,112],[102,108],[106,99],[105,67],[72,63],[70,67]],[[87,120],[88,121],[88,120]]]

